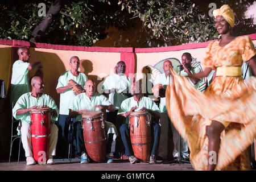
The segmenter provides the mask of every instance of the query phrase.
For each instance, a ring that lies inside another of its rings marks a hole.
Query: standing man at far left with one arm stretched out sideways
[[[35,68],[42,68],[40,62],[28,63],[30,59],[30,50],[26,47],[18,49],[19,60],[13,64],[13,74],[11,75],[11,105],[15,105],[16,101],[22,94],[30,92],[28,84],[28,71]]]

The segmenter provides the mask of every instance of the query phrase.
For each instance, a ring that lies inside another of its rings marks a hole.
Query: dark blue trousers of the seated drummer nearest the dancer
[[[120,133],[121,133],[123,145],[125,146],[125,155],[126,156],[134,155],[133,148],[131,146],[129,126],[127,124],[123,124],[120,127]],[[151,155],[155,155],[156,151],[158,150],[159,139],[160,139],[160,126],[158,123],[151,123],[151,133],[154,135],[154,143],[151,150]]]

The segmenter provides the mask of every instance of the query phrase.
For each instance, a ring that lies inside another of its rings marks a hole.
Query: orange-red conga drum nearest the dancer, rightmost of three
[[[147,111],[131,112],[129,126],[135,157],[141,162],[148,162],[151,152],[150,115]]]

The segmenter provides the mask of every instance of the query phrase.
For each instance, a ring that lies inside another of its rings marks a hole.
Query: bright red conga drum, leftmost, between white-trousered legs
[[[34,159],[39,164],[46,164],[51,135],[51,113],[48,108],[36,108],[30,111],[32,149]]]

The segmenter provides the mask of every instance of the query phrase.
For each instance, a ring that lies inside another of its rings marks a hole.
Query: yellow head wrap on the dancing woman
[[[229,5],[223,5],[220,9],[213,10],[212,14],[214,18],[217,16],[223,16],[223,18],[230,24],[231,27],[234,26],[234,13]]]

